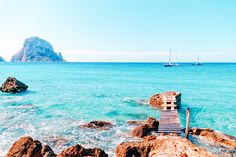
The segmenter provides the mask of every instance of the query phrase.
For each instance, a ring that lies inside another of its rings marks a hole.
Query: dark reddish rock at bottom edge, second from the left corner
[[[99,148],[86,149],[81,145],[77,144],[73,147],[67,148],[62,151],[57,157],[108,157],[108,155]]]

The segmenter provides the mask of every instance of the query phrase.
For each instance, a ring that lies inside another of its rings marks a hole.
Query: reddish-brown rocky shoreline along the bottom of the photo
[[[130,121],[128,121],[130,124]],[[214,154],[208,150],[193,144],[190,140],[177,134],[157,134],[158,120],[149,117],[146,121],[132,121],[130,125],[137,125],[130,133],[140,140],[124,141],[116,146],[117,157],[154,157],[154,156],[233,156],[231,153],[222,152]],[[112,123],[105,121],[92,121],[80,126],[82,129],[106,130],[112,127]],[[204,139],[204,142],[214,142],[222,147],[236,150],[236,138],[225,135],[211,129],[192,128],[192,136]],[[21,137],[16,141],[5,157],[107,157],[108,154],[101,148],[84,148],[80,144],[71,146],[60,153],[55,154],[49,145],[42,145],[31,137]]]

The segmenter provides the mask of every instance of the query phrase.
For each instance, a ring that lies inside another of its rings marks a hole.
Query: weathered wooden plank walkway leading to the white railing
[[[177,110],[163,110],[160,114],[159,133],[181,133]]]

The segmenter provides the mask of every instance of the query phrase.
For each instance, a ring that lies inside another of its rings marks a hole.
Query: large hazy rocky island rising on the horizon
[[[61,53],[56,53],[52,45],[38,37],[25,40],[22,49],[11,58],[12,62],[62,62]]]

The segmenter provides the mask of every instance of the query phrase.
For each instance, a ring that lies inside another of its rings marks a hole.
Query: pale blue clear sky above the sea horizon
[[[0,0],[0,56],[26,38],[68,61],[236,62],[236,0]]]

